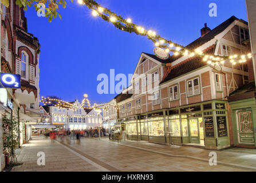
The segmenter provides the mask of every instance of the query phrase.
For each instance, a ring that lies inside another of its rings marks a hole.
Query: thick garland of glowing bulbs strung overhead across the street
[[[147,30],[142,26],[138,26],[135,23],[132,23],[131,18],[123,18],[121,15],[117,15],[113,11],[107,9],[106,7],[102,7],[99,3],[93,0],[78,0],[77,1],[80,5],[85,5],[89,9],[92,10],[93,17],[101,17],[107,22],[111,22],[117,29],[122,31],[127,31],[128,33],[135,33],[137,35],[147,36],[148,39],[153,41],[156,47],[160,47],[166,51],[166,53],[174,53],[174,56],[188,56],[188,57],[195,57],[199,56],[203,58],[204,62],[208,64],[211,63],[225,63],[225,61],[231,62],[233,65],[237,63],[244,63],[247,59],[252,58],[251,53],[247,54],[234,54],[230,56],[216,56],[216,55],[208,55],[203,53],[202,50],[195,49],[190,50],[187,47],[179,45],[171,40],[167,40],[166,38],[161,37],[159,34],[153,30]]]

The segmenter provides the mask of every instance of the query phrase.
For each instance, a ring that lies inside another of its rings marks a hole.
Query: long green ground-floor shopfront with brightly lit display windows
[[[212,100],[129,116],[123,120],[127,138],[206,149],[227,148],[230,138],[226,102]]]

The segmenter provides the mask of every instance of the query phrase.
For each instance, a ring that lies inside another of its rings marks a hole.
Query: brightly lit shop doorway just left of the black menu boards
[[[204,130],[202,118],[188,119],[190,125],[190,142],[192,144],[204,145]]]

